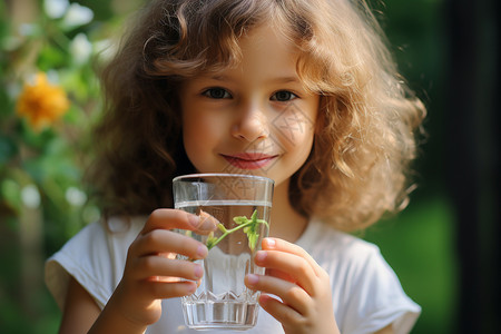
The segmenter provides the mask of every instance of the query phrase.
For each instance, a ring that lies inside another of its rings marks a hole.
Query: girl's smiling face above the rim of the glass
[[[297,50],[268,27],[240,39],[242,62],[183,86],[186,153],[199,173],[267,176],[278,185],[312,149],[320,97],[296,73]]]

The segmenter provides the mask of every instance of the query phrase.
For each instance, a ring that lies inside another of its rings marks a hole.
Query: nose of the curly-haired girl
[[[232,136],[246,141],[255,141],[268,136],[268,118],[259,106],[244,107],[237,112],[232,127]]]

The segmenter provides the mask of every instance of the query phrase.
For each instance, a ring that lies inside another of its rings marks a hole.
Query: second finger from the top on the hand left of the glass
[[[157,255],[159,253],[175,253],[188,258],[205,258],[207,247],[191,237],[166,229],[153,229],[140,235],[130,246],[132,255],[137,257]]]

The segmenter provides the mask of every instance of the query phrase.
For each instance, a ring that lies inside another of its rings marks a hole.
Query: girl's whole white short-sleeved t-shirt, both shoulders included
[[[108,222],[108,228],[100,223],[91,224],[49,258],[46,283],[58,305],[63,306],[71,275],[102,308],[121,279],[127,249],[145,222],[145,217],[129,220],[112,218]],[[328,273],[334,314],[341,333],[373,333],[390,323],[393,323],[397,334],[411,331],[421,308],[405,295],[399,278],[375,245],[316,220],[310,222],[296,244]],[[171,298],[163,301],[160,321],[148,327],[146,333],[199,332],[185,326],[180,299]],[[261,308],[257,325],[246,333],[275,334],[284,331]]]

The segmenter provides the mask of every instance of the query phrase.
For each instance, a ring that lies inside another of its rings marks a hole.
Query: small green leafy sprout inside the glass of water
[[[226,236],[243,228],[244,233],[247,235],[248,247],[250,248],[252,252],[254,252],[254,249],[256,248],[257,239],[259,237],[259,234],[257,233],[257,226],[259,224],[264,224],[266,228],[269,228],[269,225],[268,223],[266,223],[266,220],[257,219],[257,210],[254,210],[254,213],[250,216],[250,219],[245,216],[237,216],[233,218],[233,222],[235,222],[238,226],[232,229],[226,229],[226,227],[220,223],[217,224],[217,228],[219,228],[219,230],[223,234],[217,238],[214,237],[213,235],[210,235],[207,238],[206,245],[209,250],[210,248],[219,244],[220,240],[223,240]]]

